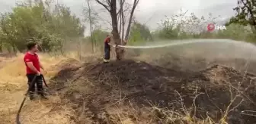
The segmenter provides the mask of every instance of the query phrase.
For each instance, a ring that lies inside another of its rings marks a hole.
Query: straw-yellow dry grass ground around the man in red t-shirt
[[[27,91],[27,77],[25,76],[24,54],[17,57],[1,57],[0,62],[0,120],[1,124],[15,123],[18,108]],[[72,55],[71,55],[72,57]],[[51,57],[49,54],[40,54],[40,60],[47,70],[44,73],[46,81],[56,75],[61,69],[55,68],[56,64],[66,61],[65,57]],[[62,106],[59,110],[54,108],[62,100],[58,95],[49,96],[49,101],[29,101],[24,103],[21,111],[22,124],[66,124],[69,122],[71,107]]]

